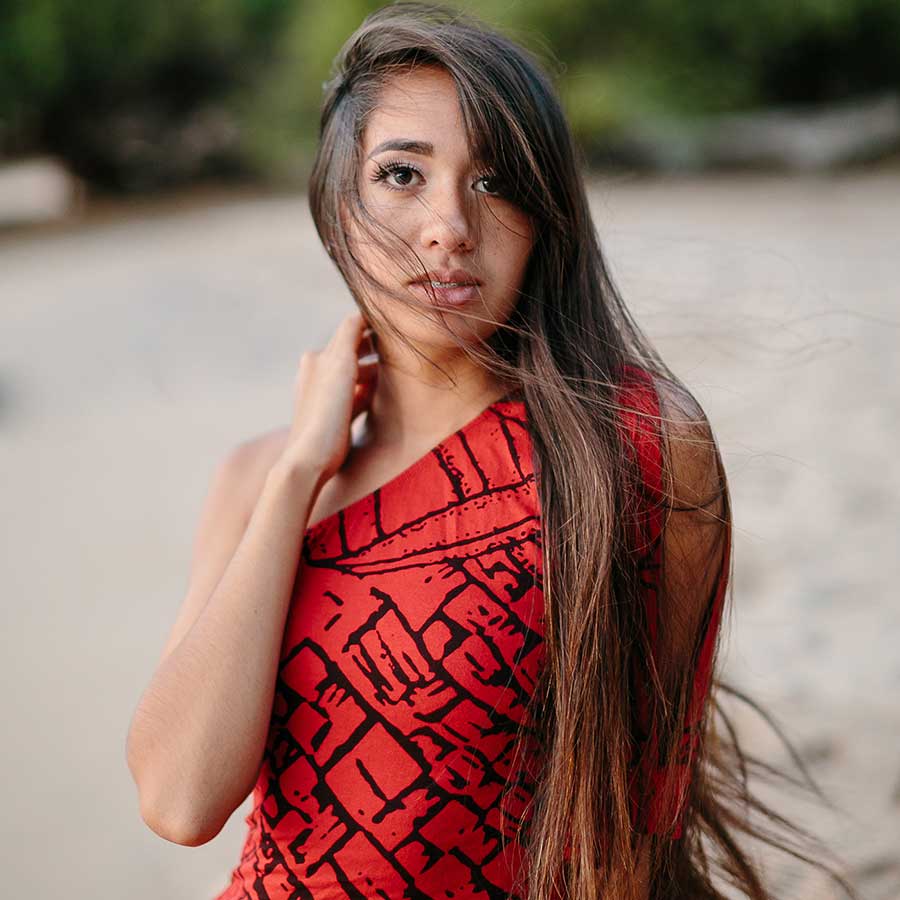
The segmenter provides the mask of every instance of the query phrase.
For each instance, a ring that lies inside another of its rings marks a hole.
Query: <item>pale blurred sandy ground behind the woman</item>
[[[867,900],[900,898],[900,174],[594,184],[638,321],[695,389],[735,505],[726,676],[843,815],[765,795]],[[243,840],[154,835],[131,713],[215,462],[288,420],[351,308],[303,197],[165,204],[0,236],[2,865],[16,896],[203,900]],[[732,707],[748,748],[783,761]],[[778,896],[839,896],[761,854]]]

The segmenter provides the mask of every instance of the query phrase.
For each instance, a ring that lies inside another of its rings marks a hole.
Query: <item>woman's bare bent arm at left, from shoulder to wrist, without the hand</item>
[[[266,455],[265,442],[251,442],[217,469],[187,596],[128,733],[144,821],[179,844],[219,833],[265,748],[298,536],[321,477],[279,462],[260,485]]]

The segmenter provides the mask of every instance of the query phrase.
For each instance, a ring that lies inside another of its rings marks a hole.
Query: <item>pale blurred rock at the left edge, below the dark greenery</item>
[[[52,157],[0,164],[0,228],[56,222],[83,202],[81,182]]]

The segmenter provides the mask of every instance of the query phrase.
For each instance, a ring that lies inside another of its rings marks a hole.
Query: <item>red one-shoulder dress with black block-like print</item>
[[[533,770],[502,810],[500,793],[543,660],[540,570],[516,394],[306,531],[242,858],[216,900],[510,894]]]

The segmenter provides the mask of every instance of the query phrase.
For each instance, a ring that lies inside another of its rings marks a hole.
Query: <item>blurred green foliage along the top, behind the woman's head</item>
[[[6,0],[0,153],[49,149],[116,183],[121,162],[104,165],[108,142],[97,137],[107,122],[152,109],[148,121],[178,123],[214,106],[240,129],[236,165],[293,177],[314,147],[334,54],[381,5]],[[900,86],[898,0],[451,5],[543,58],[576,133],[590,143],[645,117],[840,100]]]

